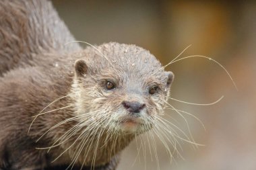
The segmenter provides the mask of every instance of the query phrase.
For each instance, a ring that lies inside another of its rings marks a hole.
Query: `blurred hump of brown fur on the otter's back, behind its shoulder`
[[[16,67],[42,65],[42,52],[81,50],[49,1],[0,1],[0,76]],[[51,58],[43,58],[44,60]],[[51,62],[49,62],[51,63]]]

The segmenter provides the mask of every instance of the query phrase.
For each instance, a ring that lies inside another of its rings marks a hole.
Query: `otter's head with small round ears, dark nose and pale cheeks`
[[[141,133],[163,113],[174,75],[135,45],[87,48],[75,62],[77,116],[108,131]]]

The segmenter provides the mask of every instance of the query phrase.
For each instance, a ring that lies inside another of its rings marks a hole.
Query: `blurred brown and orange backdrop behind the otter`
[[[255,1],[53,0],[53,4],[77,40],[136,44],[150,50],[163,65],[192,44],[180,58],[208,56],[230,72],[238,91],[212,60],[187,58],[166,68],[175,75],[171,97],[193,103],[224,98],[210,106],[169,100],[203,122],[205,130],[193,116],[183,113],[195,142],[205,146],[195,148],[180,140],[183,159],[174,154],[170,164],[164,144],[156,140],[161,170],[256,169]],[[166,110],[164,118],[189,136],[187,124],[177,112]],[[181,131],[179,134],[185,138]],[[123,152],[118,169],[158,169],[149,148],[144,149],[146,153],[140,149],[138,155],[137,144],[134,141]],[[174,149],[171,144],[170,149]]]

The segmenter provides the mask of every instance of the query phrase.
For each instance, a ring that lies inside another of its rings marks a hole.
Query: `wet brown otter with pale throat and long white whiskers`
[[[49,1],[0,8],[0,169],[116,169],[154,128],[173,73],[135,45],[65,46]]]

